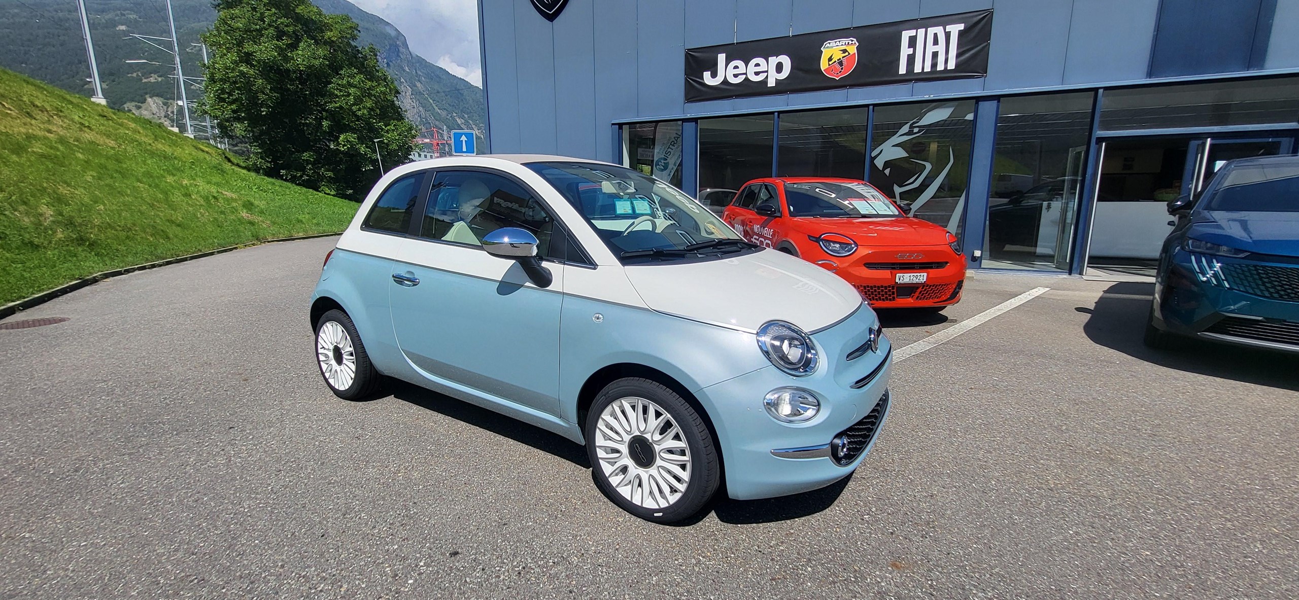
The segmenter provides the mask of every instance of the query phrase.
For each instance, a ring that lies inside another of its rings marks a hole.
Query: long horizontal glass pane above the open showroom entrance
[[[1299,122],[1299,78],[1105,90],[1100,129],[1221,127]]]

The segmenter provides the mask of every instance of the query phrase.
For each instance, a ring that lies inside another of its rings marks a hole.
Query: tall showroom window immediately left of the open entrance
[[[983,266],[1069,269],[1092,97],[1002,99]]]

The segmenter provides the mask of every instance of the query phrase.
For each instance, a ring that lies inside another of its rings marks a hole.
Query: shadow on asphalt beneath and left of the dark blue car
[[[1299,391],[1299,357],[1192,338],[1177,338],[1168,351],[1147,348],[1142,342],[1150,314],[1154,283],[1115,283],[1091,308],[1074,310],[1090,314],[1082,331],[1087,339],[1133,358],[1187,373],[1233,379],[1259,386]],[[1143,296],[1143,297],[1137,297]]]

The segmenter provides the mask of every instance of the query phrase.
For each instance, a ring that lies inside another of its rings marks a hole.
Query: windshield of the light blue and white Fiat
[[[624,262],[716,257],[757,249],[677,188],[621,166],[534,162]]]

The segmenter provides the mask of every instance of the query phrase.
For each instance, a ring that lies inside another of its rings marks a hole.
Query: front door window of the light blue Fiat
[[[479,245],[483,235],[520,227],[536,236],[536,256],[564,258],[562,230],[540,200],[496,174],[438,171],[429,192],[420,236]]]

